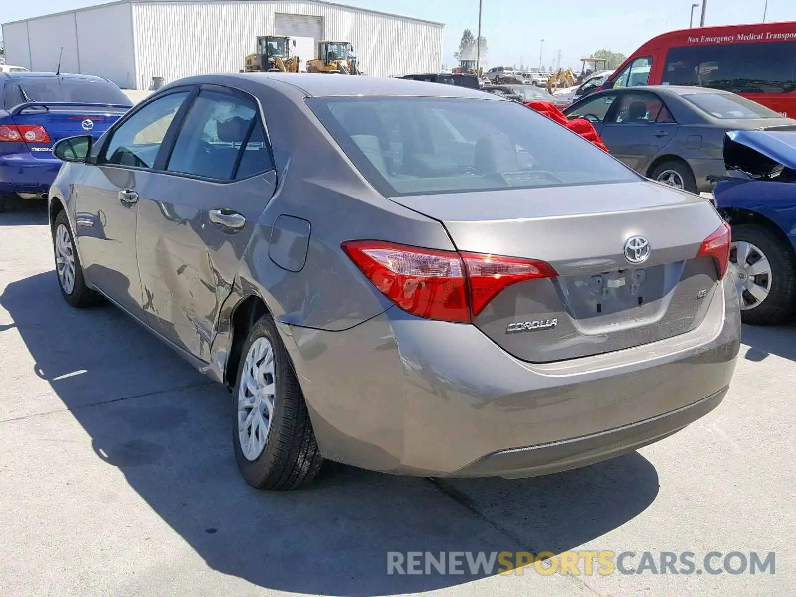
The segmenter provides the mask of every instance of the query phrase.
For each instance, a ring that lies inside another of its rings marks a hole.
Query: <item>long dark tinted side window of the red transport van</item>
[[[693,45],[666,53],[662,82],[734,93],[796,90],[796,42]]]

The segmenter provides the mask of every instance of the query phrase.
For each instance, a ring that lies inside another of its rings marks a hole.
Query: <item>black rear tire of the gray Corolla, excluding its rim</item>
[[[274,353],[275,396],[272,420],[265,447],[254,460],[244,455],[238,434],[238,395],[244,378],[246,358],[258,338],[271,342]],[[315,441],[304,395],[287,357],[287,351],[270,315],[252,326],[240,354],[240,365],[232,392],[232,445],[240,474],[246,482],[263,490],[295,490],[312,482],[323,458]]]

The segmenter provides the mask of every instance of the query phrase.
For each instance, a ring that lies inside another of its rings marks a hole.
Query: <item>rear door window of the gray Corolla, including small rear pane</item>
[[[232,180],[239,157],[247,176],[270,170],[270,154],[258,120],[256,107],[248,100],[201,92],[185,116],[166,170]]]

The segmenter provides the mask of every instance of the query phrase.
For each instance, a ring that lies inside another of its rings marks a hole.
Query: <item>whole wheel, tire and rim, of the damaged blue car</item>
[[[789,243],[759,224],[732,227],[741,319],[754,326],[782,323],[796,309],[796,256]]]

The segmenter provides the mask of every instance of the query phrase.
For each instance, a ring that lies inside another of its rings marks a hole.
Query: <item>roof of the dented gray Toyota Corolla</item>
[[[320,72],[232,72],[219,75],[197,75],[174,81],[166,87],[212,83],[231,87],[258,83],[284,91],[287,91],[285,88],[289,87],[304,97],[427,96],[494,99],[480,89],[459,85],[443,85],[399,77],[333,75]]]

